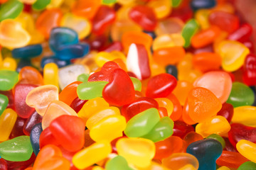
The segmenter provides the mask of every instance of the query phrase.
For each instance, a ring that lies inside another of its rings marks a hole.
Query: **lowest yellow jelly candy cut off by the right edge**
[[[240,140],[236,148],[238,152],[242,154],[245,158],[249,159],[251,162],[256,163],[256,144],[248,140]]]

